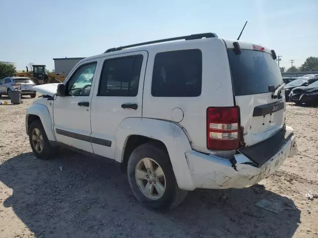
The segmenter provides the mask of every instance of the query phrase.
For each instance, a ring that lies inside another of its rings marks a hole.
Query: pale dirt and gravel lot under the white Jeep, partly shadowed
[[[305,197],[318,191],[317,108],[288,104],[299,153],[273,176],[245,189],[189,192],[162,214],[136,201],[116,165],[65,150],[36,159],[24,131],[32,101],[0,106],[0,238],[318,237],[318,198]],[[296,209],[254,206],[283,197]]]

